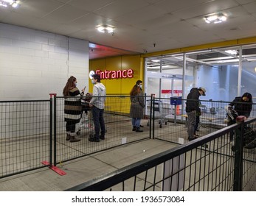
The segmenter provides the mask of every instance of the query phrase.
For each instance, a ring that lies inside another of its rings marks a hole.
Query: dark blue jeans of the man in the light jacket
[[[100,135],[105,135],[105,123],[103,118],[104,109],[101,110],[97,107],[92,107],[92,119],[94,121],[95,138],[100,138]],[[100,132],[101,129],[101,132]]]

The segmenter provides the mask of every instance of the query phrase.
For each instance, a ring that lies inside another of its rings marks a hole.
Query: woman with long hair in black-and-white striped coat
[[[84,94],[84,89],[77,88],[77,78],[71,76],[63,88],[64,102],[64,117],[66,121],[66,141],[77,142],[77,132],[80,129],[80,118],[82,111],[81,97]]]

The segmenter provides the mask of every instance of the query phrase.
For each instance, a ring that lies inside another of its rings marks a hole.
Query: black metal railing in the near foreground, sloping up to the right
[[[255,191],[255,148],[243,147],[245,128],[255,132],[255,122],[220,129],[66,191]]]

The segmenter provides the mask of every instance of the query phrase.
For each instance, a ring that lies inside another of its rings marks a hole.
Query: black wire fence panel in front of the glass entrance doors
[[[174,100],[174,101],[173,101]],[[186,99],[153,98],[148,100],[148,111],[152,107],[152,137],[173,143],[188,142]],[[226,107],[230,102],[200,101],[201,116],[195,135],[202,137],[228,125]],[[246,103],[245,103],[246,104]],[[256,104],[252,105],[250,118],[256,117]],[[166,135],[168,134],[168,135]]]

